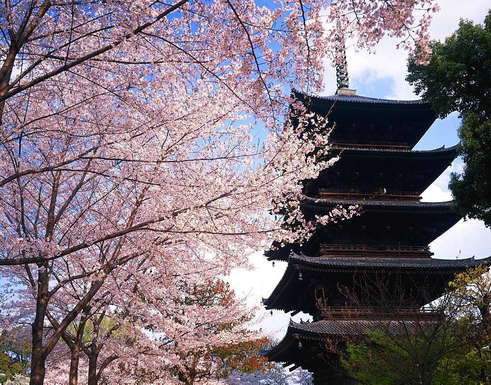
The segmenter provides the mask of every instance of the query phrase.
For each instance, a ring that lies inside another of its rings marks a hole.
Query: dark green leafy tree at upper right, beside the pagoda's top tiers
[[[430,46],[429,65],[409,60],[406,80],[440,118],[459,111],[465,166],[449,187],[459,212],[491,227],[491,10],[484,26],[461,20],[444,43]]]

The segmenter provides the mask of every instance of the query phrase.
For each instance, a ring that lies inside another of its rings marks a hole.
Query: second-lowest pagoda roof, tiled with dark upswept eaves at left
[[[464,271],[469,266],[490,263],[491,257],[475,259],[440,259],[440,258],[400,258],[400,257],[307,257],[293,251],[288,259],[288,266],[271,295],[263,300],[267,309],[281,309],[285,312],[297,309],[295,299],[304,293],[308,286],[308,277],[299,280],[298,271],[309,273],[309,276],[329,276],[330,280],[341,278],[340,273],[355,271],[397,271],[407,274],[442,274],[451,276]],[[439,294],[436,294],[437,298]]]

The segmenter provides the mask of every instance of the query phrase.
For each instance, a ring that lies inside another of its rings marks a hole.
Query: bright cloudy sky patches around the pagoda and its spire
[[[430,34],[433,39],[443,40],[458,26],[459,19],[470,19],[475,23],[482,23],[491,7],[489,0],[440,0],[440,12],[433,19]],[[412,87],[405,81],[407,74],[407,52],[397,50],[397,39],[383,38],[375,47],[375,52],[355,52],[347,47],[348,73],[350,88],[357,90],[358,95],[375,98],[412,100],[418,99]],[[335,69],[326,61],[325,95],[332,95],[336,91]],[[444,120],[437,120],[423,138],[416,145],[416,150],[429,150],[441,146],[450,147],[458,143],[457,128],[459,127],[458,114],[453,113]],[[452,171],[462,170],[462,160],[456,159],[452,165],[423,193],[423,200],[441,202],[452,199],[447,185]],[[491,255],[491,230],[477,220],[461,220],[457,225],[445,232],[430,244],[436,258],[488,257]],[[260,304],[261,298],[267,298],[274,286],[283,275],[286,262],[275,262],[275,267],[268,262],[262,253],[250,256],[251,263],[256,266],[254,271],[236,270],[229,280],[237,294],[248,296],[251,305]],[[276,338],[283,337],[289,314],[274,311],[261,311],[265,318],[261,327]],[[305,315],[298,314],[294,320]]]

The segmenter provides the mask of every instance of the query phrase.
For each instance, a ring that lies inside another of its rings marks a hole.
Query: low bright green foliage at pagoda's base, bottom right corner
[[[488,347],[462,344],[456,349],[446,341],[452,346],[441,350],[441,343],[438,335],[428,344],[417,336],[367,332],[363,341],[348,345],[341,363],[363,385],[488,384],[486,376],[481,378],[491,369]]]

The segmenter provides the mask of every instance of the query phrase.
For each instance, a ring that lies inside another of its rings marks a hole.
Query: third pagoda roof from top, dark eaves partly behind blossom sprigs
[[[304,252],[307,255],[317,256],[320,244],[365,244],[364,240],[353,242],[342,237],[342,234],[348,234],[348,238],[351,237],[354,233],[359,232],[360,227],[364,227],[367,229],[366,231],[371,231],[371,241],[366,245],[425,247],[462,218],[458,212],[452,209],[453,204],[453,201],[358,201],[304,196],[301,207],[307,218],[314,215],[326,215],[338,205],[344,208],[358,205],[361,212],[346,221],[329,222],[326,225],[318,226],[312,236],[301,245],[293,243],[281,246],[278,243],[273,243],[272,248],[266,250],[264,255],[268,260],[287,261],[291,250],[296,253]],[[394,231],[393,239],[377,237],[387,226],[389,226],[389,230]],[[418,229],[416,238],[400,237],[408,231],[408,227]]]

